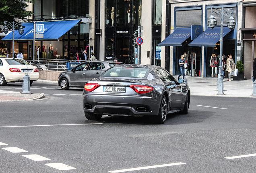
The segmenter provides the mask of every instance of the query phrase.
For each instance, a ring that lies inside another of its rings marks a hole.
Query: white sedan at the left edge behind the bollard
[[[30,77],[30,84],[39,79],[38,68],[29,62],[17,58],[0,58],[0,85],[22,82],[26,73]]]

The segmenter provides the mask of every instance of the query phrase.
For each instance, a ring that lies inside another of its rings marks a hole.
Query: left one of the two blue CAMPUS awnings
[[[191,28],[178,28],[158,46],[182,46],[182,43],[191,36]]]

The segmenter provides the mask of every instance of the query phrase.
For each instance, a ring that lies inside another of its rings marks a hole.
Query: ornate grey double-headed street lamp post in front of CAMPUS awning
[[[217,10],[217,12],[213,11],[213,9]],[[231,11],[231,12],[229,12]],[[235,20],[232,16],[233,14],[233,8],[229,9],[229,10],[224,10],[223,7],[221,8],[221,10],[218,10],[215,7],[211,7],[211,12],[212,15],[209,18],[207,24],[208,26],[213,29],[216,25],[217,25],[217,20],[215,18],[215,16],[213,16],[213,13],[218,14],[218,16],[221,19],[221,38],[220,38],[220,59],[219,59],[219,74],[218,74],[218,94],[217,95],[225,95],[223,93],[223,80],[222,80],[222,55],[223,55],[223,20],[225,19],[225,17],[229,14],[231,14],[230,18],[227,21],[227,27],[229,27],[230,30],[233,30],[235,28]]]

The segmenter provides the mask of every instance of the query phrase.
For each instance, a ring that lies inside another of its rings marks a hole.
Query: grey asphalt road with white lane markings
[[[21,91],[22,84],[0,89]],[[147,117],[89,121],[83,89],[34,82],[31,91],[46,97],[0,102],[0,172],[256,172],[253,98],[192,97],[188,115],[155,125]]]

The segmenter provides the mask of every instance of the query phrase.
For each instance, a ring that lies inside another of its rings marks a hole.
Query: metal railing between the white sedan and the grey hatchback
[[[76,60],[53,60],[53,59],[44,59],[44,60],[27,60],[31,65],[37,66],[39,70],[54,70],[54,71],[66,71],[68,62],[77,62]],[[79,60],[79,62],[82,62]]]

